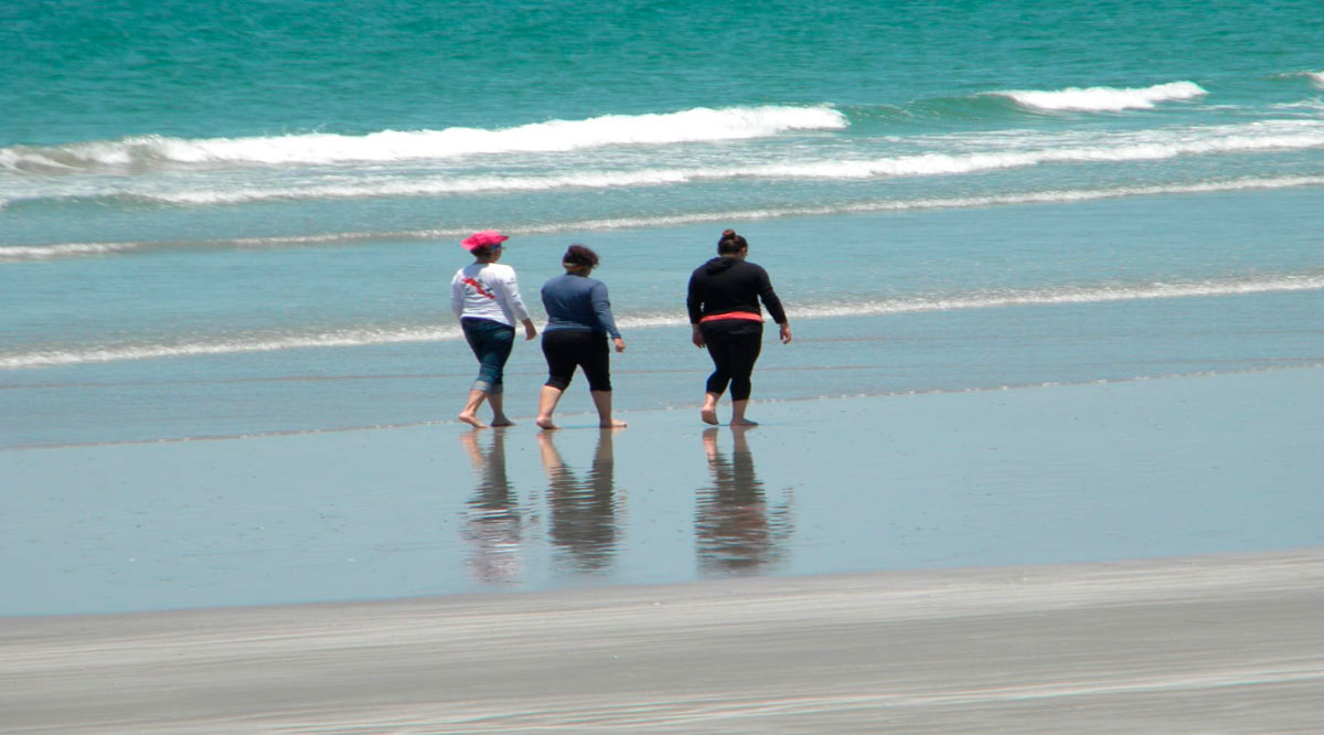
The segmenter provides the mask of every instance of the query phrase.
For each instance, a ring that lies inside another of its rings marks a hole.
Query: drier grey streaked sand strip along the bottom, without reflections
[[[0,620],[7,732],[1315,732],[1324,548]]]

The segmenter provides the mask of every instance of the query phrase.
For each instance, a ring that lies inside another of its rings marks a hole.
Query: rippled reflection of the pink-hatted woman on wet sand
[[[478,486],[466,503],[467,520],[461,534],[469,543],[469,573],[478,581],[516,583],[523,575],[520,540],[522,509],[506,478],[506,432],[482,432],[491,437],[485,452],[479,432],[465,432],[459,441],[469,453]]]

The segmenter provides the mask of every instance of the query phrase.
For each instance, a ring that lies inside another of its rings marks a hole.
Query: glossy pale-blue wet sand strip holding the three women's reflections
[[[1312,546],[1321,375],[0,452],[0,613]]]

